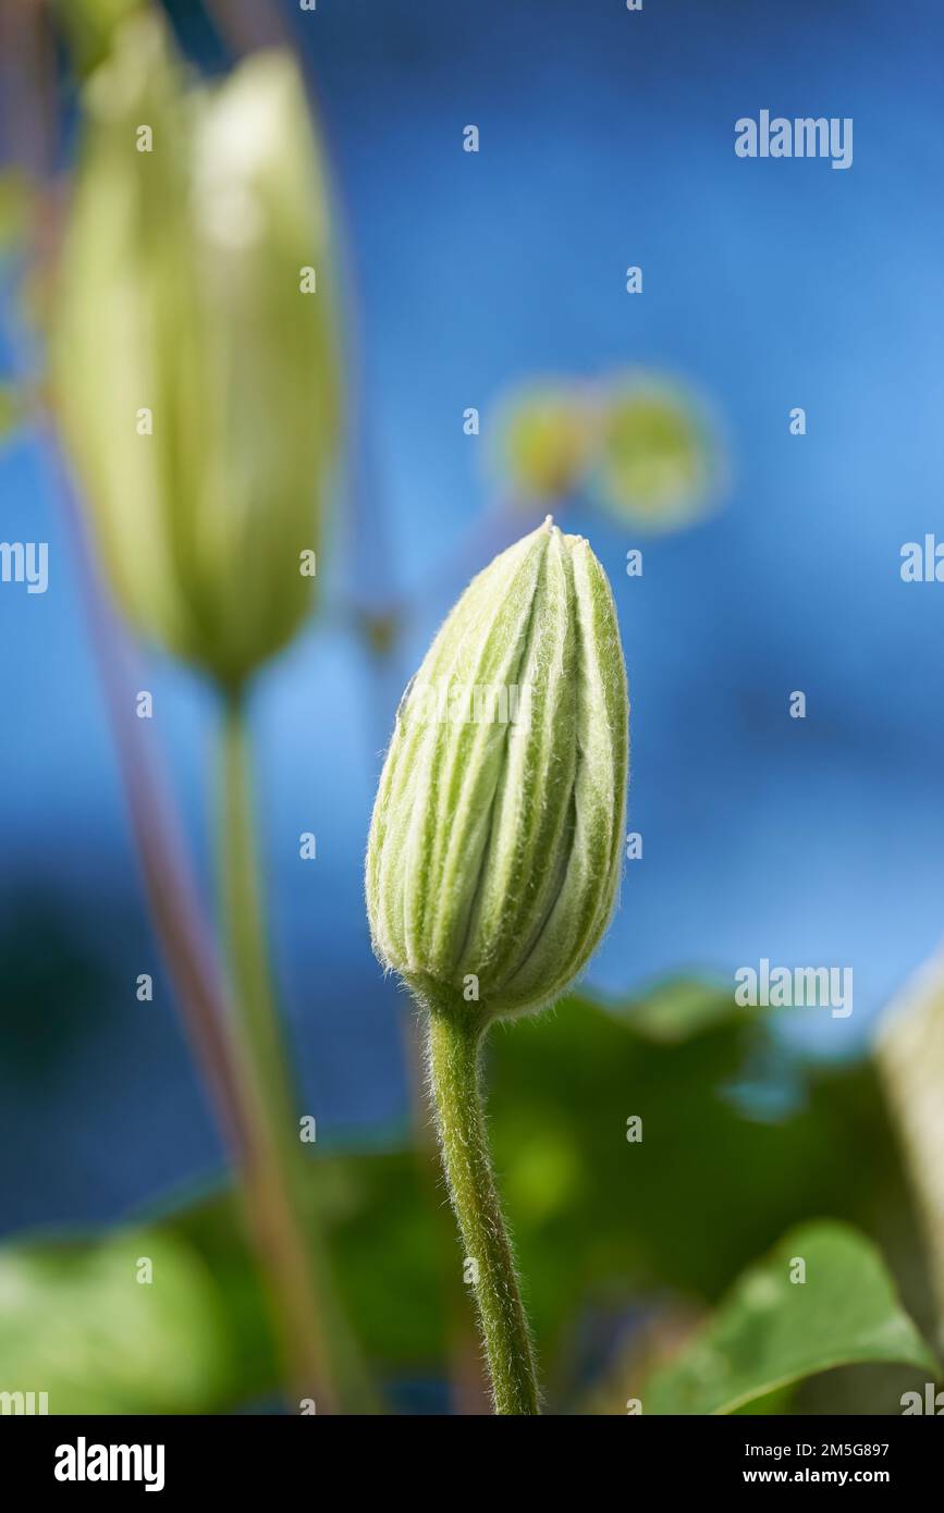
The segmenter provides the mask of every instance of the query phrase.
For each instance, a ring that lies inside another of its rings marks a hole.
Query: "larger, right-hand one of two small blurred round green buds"
[[[681,387],[629,377],[604,398],[593,496],[611,514],[675,530],[706,511],[716,484],[716,446]]]

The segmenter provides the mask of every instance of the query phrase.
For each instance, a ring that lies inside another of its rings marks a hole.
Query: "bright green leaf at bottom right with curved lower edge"
[[[791,1282],[802,1257],[806,1280]],[[846,1224],[791,1230],[746,1271],[710,1322],[641,1392],[646,1413],[732,1413],[803,1377],[864,1362],[936,1362],[885,1263]]]

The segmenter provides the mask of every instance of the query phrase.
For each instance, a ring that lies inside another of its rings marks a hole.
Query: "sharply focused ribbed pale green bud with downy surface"
[[[374,806],[374,950],[440,1012],[552,1003],[616,903],[626,672],[607,576],[551,517],[466,589],[410,682]]]

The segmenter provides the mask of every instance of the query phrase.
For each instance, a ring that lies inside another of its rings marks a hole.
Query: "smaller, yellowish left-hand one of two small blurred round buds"
[[[525,501],[564,499],[582,481],[593,449],[593,415],[573,387],[526,389],[501,422],[501,469]]]

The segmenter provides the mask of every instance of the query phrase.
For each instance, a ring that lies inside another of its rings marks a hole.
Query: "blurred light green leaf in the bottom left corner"
[[[45,1392],[50,1413],[210,1413],[228,1378],[213,1278],[180,1241],[126,1230],[0,1253],[5,1390]]]

